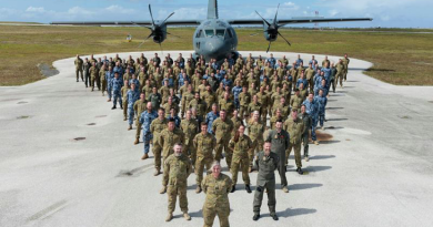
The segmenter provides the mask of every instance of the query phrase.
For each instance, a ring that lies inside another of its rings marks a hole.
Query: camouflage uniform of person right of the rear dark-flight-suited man
[[[293,117],[289,117],[288,121],[284,122],[284,130],[288,131],[290,135],[290,145],[289,149],[285,151],[285,165],[288,165],[290,153],[292,148],[294,149],[294,159],[296,163],[296,167],[302,167],[301,162],[301,143],[302,143],[302,134],[304,132],[304,122],[301,118],[293,120]]]

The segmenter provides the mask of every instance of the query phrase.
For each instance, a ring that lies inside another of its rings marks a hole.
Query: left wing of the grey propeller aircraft
[[[169,20],[167,25],[199,25],[198,20]],[[155,21],[158,23],[158,21]],[[54,21],[53,25],[152,25],[152,21]]]

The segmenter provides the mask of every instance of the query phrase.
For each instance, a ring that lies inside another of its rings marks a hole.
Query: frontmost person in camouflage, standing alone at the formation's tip
[[[201,188],[207,194],[203,204],[204,227],[212,227],[215,216],[220,219],[221,227],[230,227],[229,192],[232,184],[230,177],[221,173],[220,163],[215,162],[212,174],[208,175],[201,184]]]

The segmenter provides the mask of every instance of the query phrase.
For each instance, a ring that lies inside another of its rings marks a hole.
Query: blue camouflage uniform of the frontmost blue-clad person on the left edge
[[[158,118],[158,113],[155,111],[152,111],[152,112],[144,111],[140,115],[140,125],[143,130],[144,154],[149,153],[150,142],[152,141],[154,133],[157,133],[155,128],[153,128],[153,131],[151,130],[152,128],[151,125],[153,123],[153,120],[155,120],[155,118]],[[167,125],[167,123],[161,124],[161,125],[157,125],[157,127],[163,126],[163,125]],[[155,125],[153,125],[153,127],[155,127]],[[153,147],[152,147],[153,154],[155,154],[155,149],[157,149],[155,147],[157,147],[157,145],[153,144]],[[161,148],[160,148],[160,153],[161,153]],[[160,162],[161,162],[161,157],[160,157]],[[155,155],[155,163],[157,163],[157,155]],[[160,165],[161,165],[161,163],[160,163]]]

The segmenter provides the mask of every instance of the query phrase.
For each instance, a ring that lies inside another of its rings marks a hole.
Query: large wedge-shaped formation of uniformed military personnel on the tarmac
[[[310,134],[319,145],[316,126],[324,130],[329,93],[339,82],[343,87],[349,62],[348,54],[336,64],[326,56],[321,66],[313,55],[304,68],[300,55],[289,65],[289,59],[276,60],[273,54],[207,63],[192,54],[187,61],[182,54],[177,60],[168,54],[161,61],[155,53],[150,60],[144,54],[135,60],[91,55],[84,61],[77,55],[74,64],[77,82],[81,76],[92,92],[95,86],[102,95],[107,92],[112,109],[119,103],[123,110],[128,130],[137,126],[134,144],[141,135],[144,142],[142,159],[149,158],[152,145],[154,175],[163,171],[160,193],[169,195],[165,220],[173,218],[178,196],[184,218],[191,219],[187,178],[194,171],[195,193],[207,194],[204,226],[212,226],[215,215],[221,226],[229,226],[228,193],[235,192],[239,171],[248,193],[249,173],[259,172],[253,219],[260,218],[264,192],[271,217],[278,219],[274,171],[282,190],[289,193],[285,172],[291,151],[302,175],[301,147],[309,162]],[[223,158],[231,177],[221,173]]]

